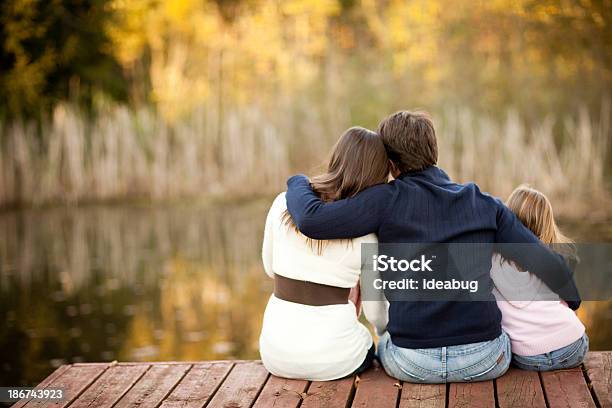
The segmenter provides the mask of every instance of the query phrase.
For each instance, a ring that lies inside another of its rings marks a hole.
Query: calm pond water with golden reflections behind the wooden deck
[[[0,214],[0,384],[72,362],[258,358],[270,202]],[[578,224],[579,240],[612,241],[609,223]],[[580,316],[591,348],[612,349],[612,303]]]

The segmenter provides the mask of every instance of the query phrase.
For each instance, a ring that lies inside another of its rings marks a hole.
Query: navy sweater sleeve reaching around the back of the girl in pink
[[[497,212],[496,242],[500,254],[535,274],[538,278],[565,300],[573,310],[580,307],[580,295],[572,271],[565,259],[544,245],[516,215],[504,204],[499,203]]]

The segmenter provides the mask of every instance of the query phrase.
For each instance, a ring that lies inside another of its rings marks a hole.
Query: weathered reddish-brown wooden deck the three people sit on
[[[612,407],[612,352],[590,353],[581,368],[510,369],[469,384],[401,383],[381,369],[330,382],[287,380],[257,361],[211,361],[65,365],[40,387],[62,387],[68,398],[14,407]]]

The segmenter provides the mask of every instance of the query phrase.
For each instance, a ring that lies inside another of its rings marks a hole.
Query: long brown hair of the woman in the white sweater
[[[389,177],[389,159],[381,138],[362,127],[345,131],[332,149],[327,172],[311,179],[310,185],[323,201],[355,196],[362,190],[385,183]],[[285,210],[283,222],[299,233],[291,215]],[[324,241],[307,238],[311,248],[321,253]]]

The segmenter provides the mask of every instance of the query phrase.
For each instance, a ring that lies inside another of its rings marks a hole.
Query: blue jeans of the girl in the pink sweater
[[[512,362],[523,370],[551,371],[562,368],[577,367],[584,360],[589,351],[589,337],[585,334],[570,344],[550,353],[538,354],[537,356],[512,355]]]

